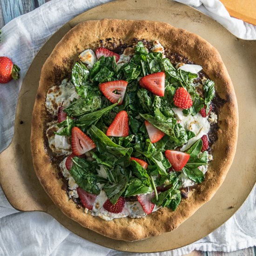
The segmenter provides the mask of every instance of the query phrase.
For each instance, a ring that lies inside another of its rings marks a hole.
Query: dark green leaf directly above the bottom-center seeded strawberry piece
[[[128,183],[128,175],[123,174],[123,172],[121,167],[117,165],[115,167],[115,182],[107,182],[104,185],[104,191],[106,192],[109,201],[113,204],[117,202]]]

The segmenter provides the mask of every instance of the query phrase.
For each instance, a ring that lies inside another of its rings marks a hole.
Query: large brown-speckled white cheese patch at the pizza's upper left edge
[[[66,108],[78,97],[74,85],[64,79],[60,86],[53,86],[48,90],[45,105],[50,114],[57,115],[59,107]]]

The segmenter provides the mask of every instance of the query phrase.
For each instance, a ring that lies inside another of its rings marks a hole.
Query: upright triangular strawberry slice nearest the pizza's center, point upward
[[[108,127],[107,136],[126,137],[129,135],[128,115],[122,110],[117,113],[115,119]]]

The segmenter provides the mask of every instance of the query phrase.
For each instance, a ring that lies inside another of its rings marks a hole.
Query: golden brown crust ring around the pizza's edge
[[[63,182],[56,178],[57,173],[51,158],[45,150],[44,123],[47,119],[45,100],[50,87],[60,84],[71,72],[79,53],[86,48],[96,49],[99,40],[115,38],[125,43],[134,38],[153,41],[158,39],[164,48],[186,56],[190,61],[203,67],[209,78],[215,81],[216,92],[226,100],[218,115],[218,140],[213,144],[214,161],[210,162],[202,184],[195,186],[186,200],[182,200],[173,212],[167,208],[141,219],[120,218],[104,221],[99,217],[85,214],[68,199],[61,189]],[[196,34],[172,27],[167,23],[147,20],[92,20],[78,24],[56,45],[45,62],[40,78],[33,111],[31,148],[36,174],[48,195],[64,214],[88,229],[114,239],[135,241],[177,228],[189,216],[208,202],[221,186],[236,151],[238,131],[238,110],[236,95],[220,54]]]

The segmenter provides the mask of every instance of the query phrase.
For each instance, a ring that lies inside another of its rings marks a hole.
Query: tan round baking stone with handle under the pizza
[[[132,243],[101,236],[65,216],[40,185],[34,172],[30,151],[31,116],[43,63],[56,43],[72,27],[84,20],[102,18],[164,21],[208,40],[218,49],[229,71],[240,112],[235,160],[212,200],[197,210],[178,229]],[[205,14],[171,0],[155,0],[150,2],[150,6],[148,0],[119,0],[80,14],[61,27],[40,49],[23,81],[13,140],[0,154],[0,185],[8,201],[15,209],[21,211],[46,212],[75,234],[102,246],[122,251],[157,252],[176,249],[208,235],[236,212],[256,182],[255,56],[256,41],[238,39]]]

